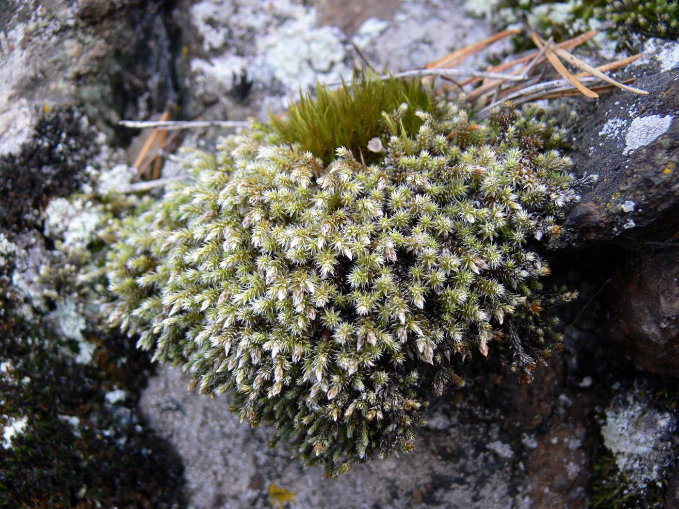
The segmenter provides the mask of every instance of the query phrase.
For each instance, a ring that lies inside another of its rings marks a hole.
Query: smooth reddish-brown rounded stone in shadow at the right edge
[[[679,255],[645,259],[610,287],[608,335],[643,369],[679,376]]]

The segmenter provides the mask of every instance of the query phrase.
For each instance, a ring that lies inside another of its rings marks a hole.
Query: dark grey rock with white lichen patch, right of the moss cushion
[[[677,231],[679,79],[667,71],[635,86],[648,95],[619,90],[581,114],[570,155],[576,172],[598,174],[599,181],[570,212],[569,247],[619,236],[657,242]]]

